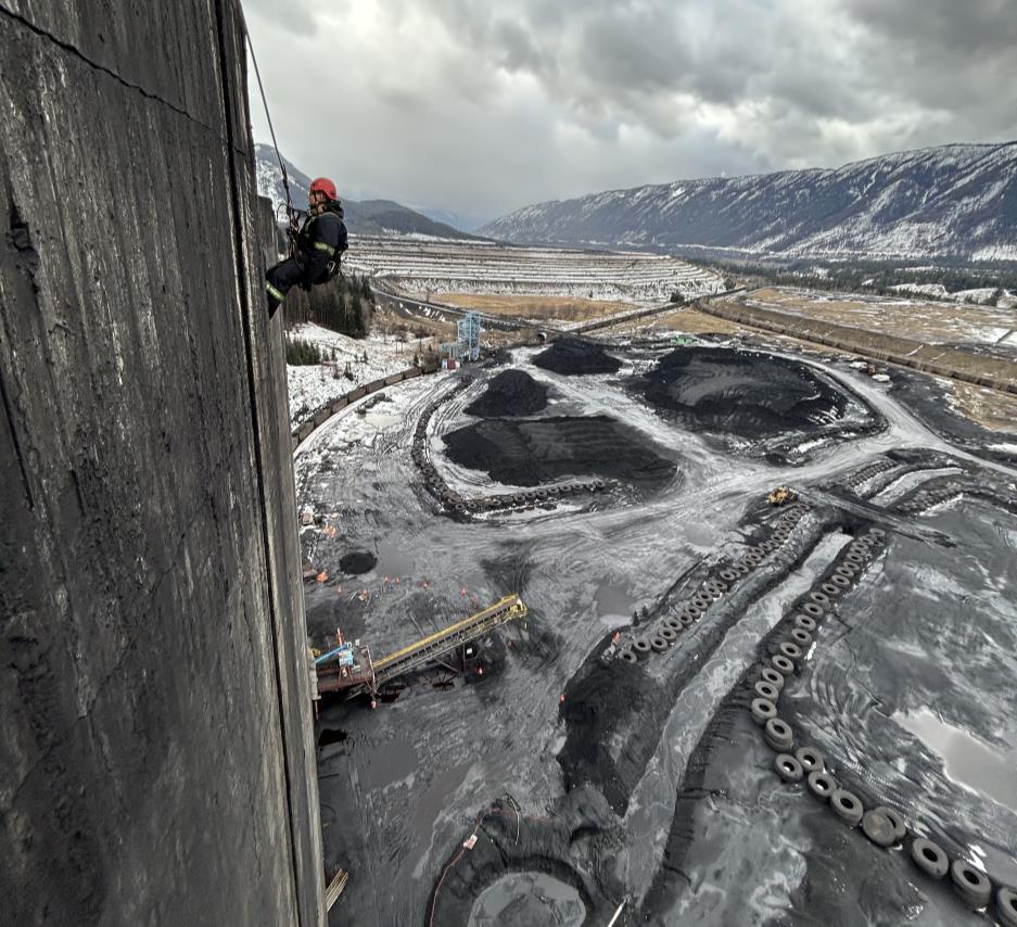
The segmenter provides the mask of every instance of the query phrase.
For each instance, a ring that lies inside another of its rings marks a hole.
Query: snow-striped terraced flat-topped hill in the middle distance
[[[656,254],[517,247],[423,237],[351,239],[345,266],[407,291],[662,302],[724,289],[713,270]]]

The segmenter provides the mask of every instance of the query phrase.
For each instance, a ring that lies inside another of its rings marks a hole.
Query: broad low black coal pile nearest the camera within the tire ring
[[[658,488],[677,470],[638,432],[608,416],[488,419],[446,434],[445,446],[459,466],[516,486],[596,475]]]

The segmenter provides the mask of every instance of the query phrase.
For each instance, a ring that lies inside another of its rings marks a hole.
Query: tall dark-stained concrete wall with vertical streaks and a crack
[[[0,0],[0,920],[320,925],[236,0]]]

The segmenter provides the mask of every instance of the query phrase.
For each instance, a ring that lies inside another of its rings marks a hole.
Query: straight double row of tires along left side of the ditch
[[[638,663],[653,653],[665,652],[677,642],[683,631],[691,627],[707,613],[714,601],[728,593],[737,582],[751,573],[766,557],[785,544],[808,511],[809,506],[804,503],[793,503],[787,506],[780,517],[768,525],[772,531],[765,541],[747,547],[740,560],[719,568],[715,574],[703,580],[685,605],[672,608],[648,634],[635,637],[627,646],[622,646],[618,650],[616,659],[626,663]]]

